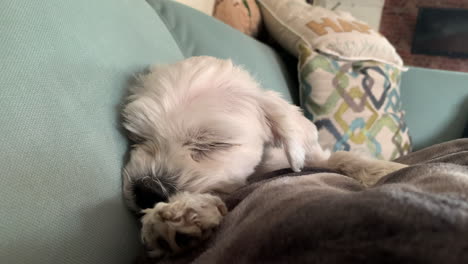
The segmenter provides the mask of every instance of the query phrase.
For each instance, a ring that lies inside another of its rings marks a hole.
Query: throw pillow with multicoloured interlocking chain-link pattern
[[[339,60],[299,45],[299,75],[302,108],[322,147],[384,160],[411,151],[397,67]]]

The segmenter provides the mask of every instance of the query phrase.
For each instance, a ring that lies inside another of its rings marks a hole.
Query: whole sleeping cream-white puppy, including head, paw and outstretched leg
[[[131,87],[123,119],[134,142],[124,197],[144,213],[141,237],[153,257],[208,237],[227,213],[212,194],[231,193],[250,175],[318,166],[371,185],[405,166],[330,155],[298,107],[213,57],[152,67]]]

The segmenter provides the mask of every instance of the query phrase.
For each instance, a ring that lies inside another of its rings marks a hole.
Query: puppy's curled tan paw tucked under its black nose
[[[142,242],[150,256],[161,257],[193,248],[208,238],[227,208],[217,196],[182,192],[143,213]]]

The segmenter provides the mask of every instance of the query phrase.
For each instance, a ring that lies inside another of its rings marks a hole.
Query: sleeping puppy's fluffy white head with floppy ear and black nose
[[[134,209],[177,190],[233,191],[262,163],[265,146],[283,147],[298,171],[318,146],[315,126],[297,107],[212,57],[151,68],[132,87],[123,117],[135,143],[124,168]]]

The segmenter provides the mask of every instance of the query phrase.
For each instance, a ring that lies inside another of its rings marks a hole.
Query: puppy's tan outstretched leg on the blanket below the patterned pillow
[[[353,152],[338,151],[332,153],[328,159],[327,167],[340,171],[365,186],[372,186],[385,175],[408,167],[408,165],[366,158]]]

